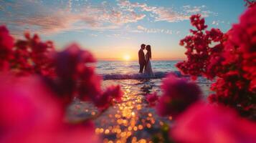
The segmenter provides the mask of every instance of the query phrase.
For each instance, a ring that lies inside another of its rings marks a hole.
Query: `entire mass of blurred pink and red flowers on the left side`
[[[64,122],[75,97],[103,112],[123,96],[120,86],[101,89],[89,51],[55,51],[37,34],[14,42],[0,26],[0,52],[0,142],[100,142],[90,119]]]

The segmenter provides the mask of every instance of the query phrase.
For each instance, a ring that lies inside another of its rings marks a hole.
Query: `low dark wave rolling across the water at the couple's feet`
[[[166,77],[166,74],[176,74],[176,76],[181,77],[180,71],[171,71],[171,72],[163,72],[163,71],[156,71],[154,72],[154,77],[146,77],[144,74],[103,74],[103,80],[110,80],[110,79],[161,79]]]

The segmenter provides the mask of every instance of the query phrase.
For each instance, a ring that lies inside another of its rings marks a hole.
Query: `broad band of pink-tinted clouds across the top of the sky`
[[[189,19],[194,13],[214,14],[206,6],[183,6],[177,10],[145,3],[116,0],[117,4],[103,1],[92,4],[83,1],[0,1],[0,24],[6,24],[18,36],[25,30],[39,34],[57,34],[65,31],[95,31],[121,29],[145,18],[148,21],[177,22]],[[74,9],[75,8],[75,9]],[[147,17],[148,16],[148,17]],[[150,18],[150,19],[149,19]],[[137,27],[138,28],[138,27]],[[140,27],[142,28],[142,27]],[[147,31],[146,31],[147,30]],[[148,33],[169,33],[160,29],[136,29]]]

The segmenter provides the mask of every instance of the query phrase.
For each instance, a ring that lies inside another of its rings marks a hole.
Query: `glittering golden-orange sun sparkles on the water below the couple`
[[[122,102],[114,105],[115,114],[108,114],[112,126],[95,129],[96,134],[105,137],[103,142],[151,142],[150,139],[139,138],[138,134],[151,129],[156,119],[151,112],[141,112],[147,106],[143,101],[145,97],[132,92],[131,88],[123,87]]]

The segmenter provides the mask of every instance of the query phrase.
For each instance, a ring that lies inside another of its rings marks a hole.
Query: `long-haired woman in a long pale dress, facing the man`
[[[146,77],[154,77],[152,68],[151,68],[151,46],[147,45],[146,46],[146,66],[144,69],[144,74],[146,75]]]

